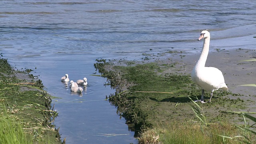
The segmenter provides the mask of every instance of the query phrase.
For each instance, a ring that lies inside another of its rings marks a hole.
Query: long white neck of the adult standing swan
[[[200,68],[200,67],[205,66],[207,56],[208,56],[208,53],[209,53],[209,47],[210,47],[210,37],[204,38],[204,44],[203,44],[202,52],[201,52],[199,60],[196,63],[195,68]]]

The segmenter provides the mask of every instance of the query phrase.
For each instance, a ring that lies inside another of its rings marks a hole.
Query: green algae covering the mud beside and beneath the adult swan
[[[118,108],[128,127],[135,131],[135,136],[162,123],[198,122],[190,108],[192,103],[188,96],[200,98],[202,90],[192,82],[189,74],[176,73],[179,71],[176,63],[150,62],[124,66],[123,63],[118,65],[118,62],[102,59],[96,61],[96,70],[108,78],[112,87],[117,87],[116,93],[106,98]],[[210,96],[210,93],[206,92],[205,96]],[[212,123],[239,122],[239,116],[226,111],[246,108],[239,94],[221,90],[214,92],[212,102],[199,105]]]

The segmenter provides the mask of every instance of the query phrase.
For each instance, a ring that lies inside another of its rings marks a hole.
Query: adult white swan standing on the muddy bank
[[[191,72],[191,78],[193,82],[195,82],[196,84],[198,84],[198,86],[202,88],[201,99],[197,100],[196,102],[200,101],[202,103],[205,103],[204,90],[211,92],[211,97],[209,100],[209,102],[211,102],[214,90],[228,90],[228,87],[225,84],[222,72],[218,68],[205,67],[210,47],[210,32],[208,32],[207,30],[203,30],[198,40],[201,40],[202,38],[204,38],[202,53],[199,60],[196,62],[194,69]]]

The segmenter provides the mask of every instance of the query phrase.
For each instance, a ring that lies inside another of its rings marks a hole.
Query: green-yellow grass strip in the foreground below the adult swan
[[[162,144],[239,144],[217,135],[239,134],[239,130],[230,124],[210,124],[202,132],[200,124],[174,122],[158,126],[154,131],[159,135],[159,142]]]

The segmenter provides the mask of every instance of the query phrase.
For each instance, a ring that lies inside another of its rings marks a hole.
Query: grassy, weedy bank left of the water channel
[[[30,71],[14,70],[7,59],[0,58],[0,143],[65,143],[52,124],[58,115],[52,99]]]

